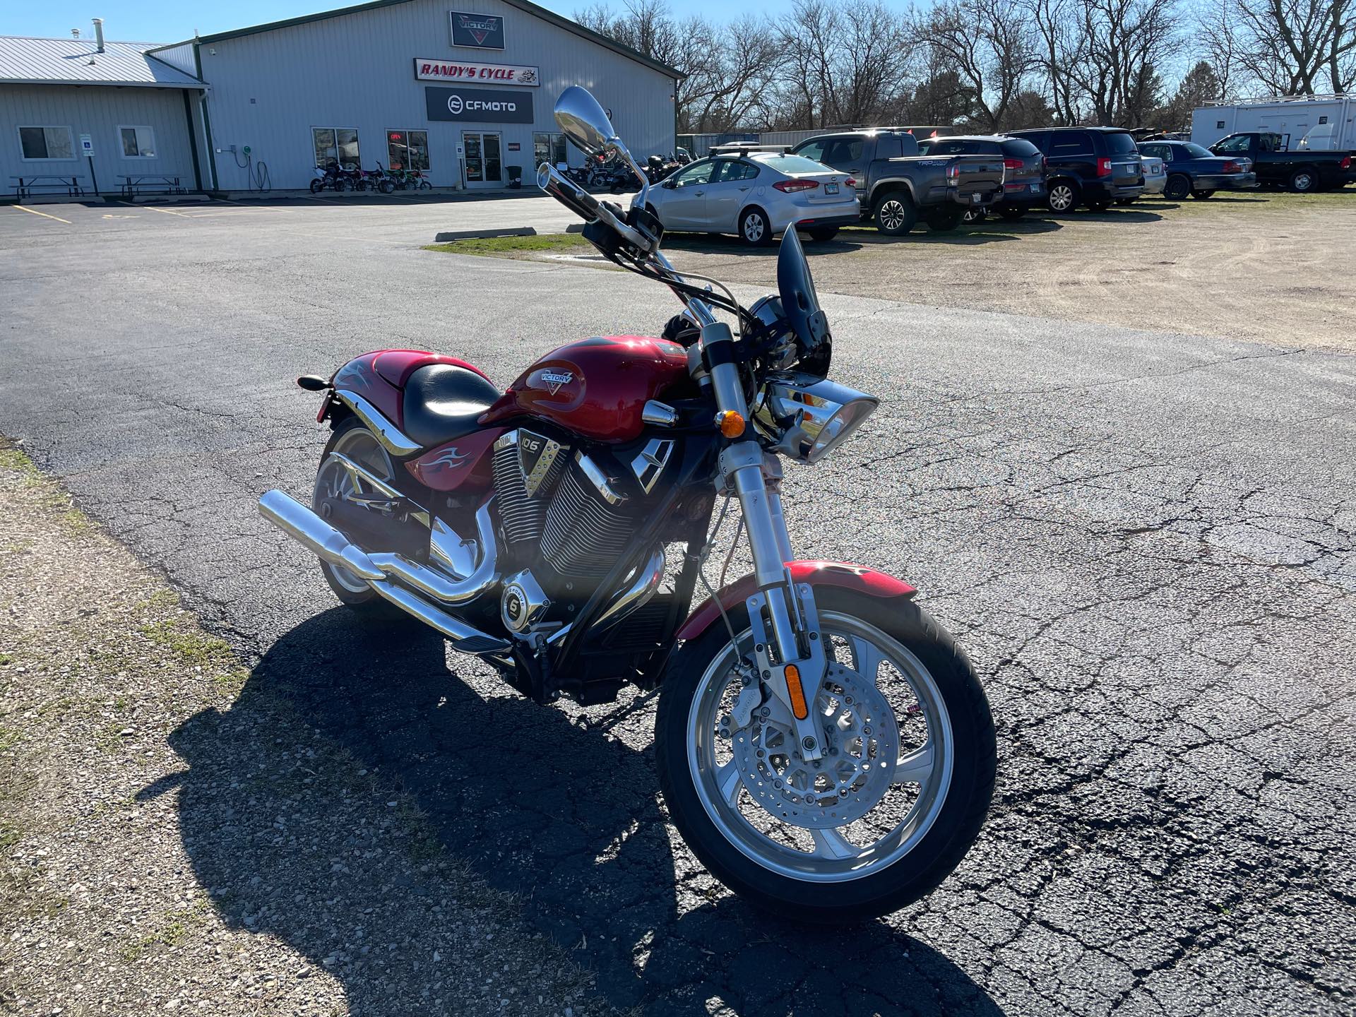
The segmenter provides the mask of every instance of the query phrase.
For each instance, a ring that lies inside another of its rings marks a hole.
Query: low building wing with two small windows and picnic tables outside
[[[199,190],[203,83],[152,45],[0,37],[0,194]]]

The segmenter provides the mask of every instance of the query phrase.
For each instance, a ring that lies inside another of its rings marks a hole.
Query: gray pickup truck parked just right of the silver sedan
[[[820,134],[792,152],[849,174],[862,218],[890,236],[903,236],[919,218],[929,229],[955,229],[965,209],[1003,197],[1002,156],[921,156],[918,140],[898,127]]]

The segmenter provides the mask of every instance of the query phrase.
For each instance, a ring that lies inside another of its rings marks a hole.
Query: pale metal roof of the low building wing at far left
[[[151,56],[156,42],[35,39],[0,35],[0,84],[102,84],[140,88],[202,88],[186,75]]]

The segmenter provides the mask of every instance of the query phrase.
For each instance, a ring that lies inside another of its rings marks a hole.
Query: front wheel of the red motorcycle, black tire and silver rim
[[[984,822],[997,746],[970,660],[915,603],[842,587],[815,602],[822,759],[801,758],[766,693],[736,728],[744,686],[721,622],[675,655],[655,755],[670,818],[716,879],[785,918],[837,925],[896,911],[951,875]],[[751,660],[749,613],[728,614]]]

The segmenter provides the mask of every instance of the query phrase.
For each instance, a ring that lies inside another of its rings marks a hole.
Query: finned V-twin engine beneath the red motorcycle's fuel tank
[[[671,450],[670,441],[660,462],[652,452],[650,460],[637,456],[643,490],[654,487]],[[510,568],[530,571],[552,601],[587,599],[644,514],[644,499],[629,496],[633,485],[618,481],[618,473],[606,453],[572,449],[526,428],[502,435],[492,475]],[[506,614],[506,624],[521,617]]]

